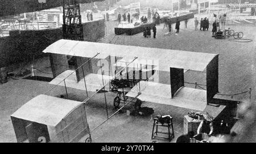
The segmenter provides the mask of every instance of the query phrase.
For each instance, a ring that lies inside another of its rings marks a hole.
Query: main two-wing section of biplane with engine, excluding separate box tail
[[[43,52],[51,61],[50,84],[117,92],[115,108],[135,98],[203,111],[218,92],[218,54],[73,40],[56,41]],[[68,57],[75,57],[75,70]],[[206,74],[206,89],[185,87],[187,71]]]

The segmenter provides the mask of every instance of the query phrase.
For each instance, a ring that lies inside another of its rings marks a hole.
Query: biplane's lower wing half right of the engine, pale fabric
[[[207,106],[207,92],[201,89],[181,87],[172,98],[170,85],[141,81],[126,96],[135,97],[139,92],[138,99],[142,101],[197,111],[203,111]]]

